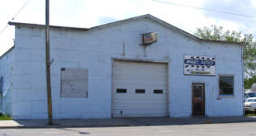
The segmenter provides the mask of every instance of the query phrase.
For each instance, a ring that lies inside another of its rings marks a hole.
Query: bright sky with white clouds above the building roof
[[[154,0],[50,0],[50,24],[89,28],[119,19],[152,14],[158,19],[190,33],[196,28],[222,25],[226,30],[252,33],[256,37],[256,0],[161,0],[186,6],[221,10],[255,17],[254,19],[175,6]],[[0,31],[27,0],[0,1]],[[16,22],[45,23],[45,0],[30,0]],[[13,45],[14,28],[0,35],[0,55]]]

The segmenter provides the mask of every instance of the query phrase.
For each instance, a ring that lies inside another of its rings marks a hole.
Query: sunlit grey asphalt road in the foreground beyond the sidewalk
[[[1,129],[0,136],[256,136],[256,122],[54,129]]]

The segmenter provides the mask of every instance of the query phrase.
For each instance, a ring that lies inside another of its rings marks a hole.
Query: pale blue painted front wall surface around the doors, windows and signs
[[[141,46],[141,33],[156,32],[158,41]],[[125,49],[124,49],[125,47]],[[168,115],[192,114],[192,83],[204,82],[206,116],[242,116],[241,48],[236,43],[196,41],[152,19],[135,19],[88,31],[52,29],[50,58],[54,118],[109,118],[113,58],[168,62]],[[183,56],[215,56],[216,76],[186,76]],[[11,116],[47,118],[45,31],[17,27],[13,51]],[[2,58],[3,59],[3,58]],[[1,60],[1,69],[4,68]],[[9,66],[8,66],[9,67]],[[88,68],[88,98],[62,98],[61,68]],[[1,70],[1,74],[7,70]],[[235,75],[234,96],[220,96],[220,74]]]

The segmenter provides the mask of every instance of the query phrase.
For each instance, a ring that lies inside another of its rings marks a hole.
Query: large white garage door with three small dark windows
[[[113,117],[167,117],[167,65],[115,61]]]

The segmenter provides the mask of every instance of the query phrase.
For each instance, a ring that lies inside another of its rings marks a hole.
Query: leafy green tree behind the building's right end
[[[222,26],[211,25],[203,29],[197,28],[195,36],[208,39],[212,41],[227,41],[238,42],[243,44],[243,59],[244,59],[244,72],[246,79],[251,79],[256,76],[256,43],[253,42],[252,34],[242,34],[241,31],[224,31]],[[249,81],[249,80],[245,80]],[[249,84],[245,82],[245,84]]]

